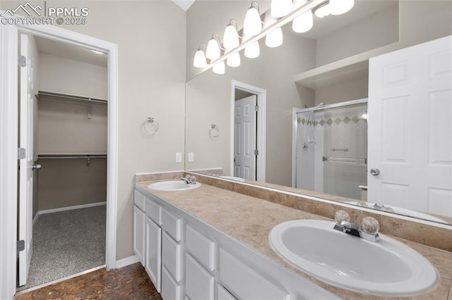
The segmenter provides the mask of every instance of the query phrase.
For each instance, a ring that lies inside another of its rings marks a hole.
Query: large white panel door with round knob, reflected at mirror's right
[[[452,37],[371,58],[368,109],[369,201],[452,216]]]

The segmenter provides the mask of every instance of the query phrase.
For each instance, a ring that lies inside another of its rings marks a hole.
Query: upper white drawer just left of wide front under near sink
[[[204,237],[190,225],[185,228],[186,249],[205,268],[215,270],[215,243]]]

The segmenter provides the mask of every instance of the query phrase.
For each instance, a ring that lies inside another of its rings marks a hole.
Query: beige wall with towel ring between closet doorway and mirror
[[[184,152],[185,12],[170,0],[47,1],[52,6],[88,7],[87,24],[62,27],[118,45],[117,259],[126,258],[133,255],[133,175],[184,168],[174,154]],[[141,130],[148,117],[160,123],[156,135]]]

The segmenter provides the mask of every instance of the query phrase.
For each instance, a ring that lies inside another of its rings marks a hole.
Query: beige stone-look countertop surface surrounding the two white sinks
[[[253,196],[246,196],[237,192],[231,192],[227,189],[221,189],[210,185],[202,184],[196,189],[186,190],[183,192],[163,192],[148,189],[147,186],[151,182],[138,182],[137,185],[144,187],[149,192],[157,194],[170,203],[182,208],[187,213],[194,215],[213,227],[222,230],[239,240],[240,242],[250,246],[256,251],[264,254],[284,265],[302,277],[311,280],[327,289],[333,294],[337,294],[343,299],[387,299],[388,297],[362,294],[347,289],[341,289],[328,285],[316,278],[307,275],[307,273],[292,267],[284,261],[278,254],[271,249],[268,242],[270,230],[275,225],[288,220],[299,219],[316,219],[331,220],[321,215],[307,213],[299,209],[290,208],[270,201],[258,199]],[[404,239],[398,241],[407,244],[415,249],[425,258],[427,258],[438,270],[441,282],[432,292],[420,294],[410,297],[389,297],[389,299],[444,299],[452,300],[452,253],[435,249],[422,244],[406,241]]]

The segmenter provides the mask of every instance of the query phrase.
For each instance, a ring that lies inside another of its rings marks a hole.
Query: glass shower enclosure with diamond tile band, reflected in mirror
[[[292,185],[362,199],[367,188],[367,99],[294,109]]]

